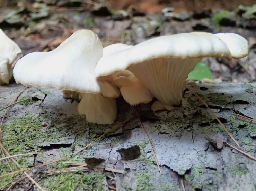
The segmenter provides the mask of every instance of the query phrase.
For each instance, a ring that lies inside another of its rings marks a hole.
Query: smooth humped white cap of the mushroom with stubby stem
[[[100,93],[94,69],[102,56],[98,36],[90,30],[79,30],[53,51],[21,58],[14,67],[14,78],[24,85]]]

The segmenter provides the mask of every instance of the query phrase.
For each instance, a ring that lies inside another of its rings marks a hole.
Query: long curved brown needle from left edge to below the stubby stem
[[[129,121],[130,119],[132,119],[132,118],[126,119],[126,120],[124,120],[124,121],[118,123],[118,124],[115,125],[113,128],[111,128],[111,129],[109,129],[108,131],[106,131],[106,132],[105,132],[103,135],[101,135],[99,138],[97,138],[96,140],[92,141],[90,144],[86,145],[86,146],[83,147],[82,149],[80,149],[80,150],[78,150],[78,151],[76,151],[76,152],[74,152],[74,153],[68,155],[67,157],[63,157],[63,158],[61,158],[61,159],[58,159],[58,160],[55,160],[55,161],[52,161],[52,162],[48,162],[48,163],[45,163],[45,164],[37,165],[37,166],[35,166],[35,167],[30,167],[30,168],[27,168],[27,169],[18,170],[18,171],[15,171],[15,172],[10,172],[10,173],[7,173],[7,174],[3,174],[3,175],[0,176],[0,178],[5,177],[5,176],[8,176],[8,175],[11,175],[11,174],[15,174],[15,173],[18,173],[18,172],[23,172],[23,171],[25,171],[25,170],[34,169],[34,168],[37,168],[37,167],[43,167],[43,166],[45,166],[45,165],[52,164],[52,163],[59,162],[59,161],[62,161],[62,160],[64,160],[64,159],[67,159],[67,158],[71,157],[72,155],[75,155],[75,154],[81,152],[82,150],[88,148],[90,145],[92,145],[93,143],[95,143],[96,141],[98,141],[99,139],[101,139],[102,137],[104,137],[107,133],[109,133],[109,132],[113,131],[114,129],[118,128],[121,124],[126,123],[126,122]],[[1,144],[1,143],[0,143],[0,144]]]

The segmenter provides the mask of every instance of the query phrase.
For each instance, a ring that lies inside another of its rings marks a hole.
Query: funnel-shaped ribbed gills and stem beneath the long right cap
[[[155,58],[128,68],[163,105],[179,105],[188,74],[201,58]]]

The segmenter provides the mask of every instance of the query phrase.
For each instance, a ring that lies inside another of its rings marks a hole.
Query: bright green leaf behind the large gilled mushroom
[[[201,80],[203,78],[212,79],[212,72],[205,63],[199,62],[194,70],[188,74],[187,79]]]

